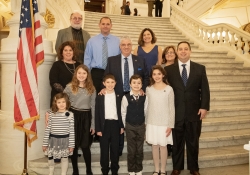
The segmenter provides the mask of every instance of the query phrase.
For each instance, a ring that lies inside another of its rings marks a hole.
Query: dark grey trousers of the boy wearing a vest
[[[137,173],[143,169],[142,161],[145,130],[144,123],[137,126],[126,123],[128,172]]]

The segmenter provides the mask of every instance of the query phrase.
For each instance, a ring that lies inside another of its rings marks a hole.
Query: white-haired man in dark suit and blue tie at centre
[[[108,58],[108,64],[104,74],[111,73],[115,75],[116,86],[115,93],[123,96],[130,92],[129,79],[132,75],[138,74],[142,77],[143,87],[145,92],[149,83],[148,69],[144,58],[131,54],[132,42],[128,36],[120,39],[121,54]],[[102,90],[103,91],[103,90]],[[120,155],[124,147],[124,135],[120,137]]]

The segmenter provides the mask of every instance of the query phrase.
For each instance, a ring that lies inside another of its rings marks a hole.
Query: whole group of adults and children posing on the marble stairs
[[[171,174],[184,169],[186,145],[188,169],[199,175],[199,137],[210,93],[205,67],[190,61],[190,44],[182,41],[177,50],[168,46],[162,51],[154,32],[145,28],[131,54],[130,37],[110,34],[109,17],[100,19],[100,34],[91,38],[81,28],[79,12],[71,14],[70,22],[58,32],[58,61],[49,75],[51,109],[46,113],[43,151],[50,175],[58,162],[66,174],[69,156],[73,175],[79,174],[79,148],[86,174],[92,175],[94,133],[99,136],[102,173],[118,174],[124,132],[129,174],[142,174],[146,140],[152,145],[153,175],[166,174],[168,144],[173,145]]]

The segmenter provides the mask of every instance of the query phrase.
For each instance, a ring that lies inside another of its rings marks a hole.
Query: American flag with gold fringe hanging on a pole
[[[22,0],[15,74],[14,127],[24,131],[28,145],[37,138],[39,119],[37,66],[44,60],[37,0]]]

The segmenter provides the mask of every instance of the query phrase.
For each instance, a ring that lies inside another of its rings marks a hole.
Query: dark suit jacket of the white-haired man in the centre
[[[132,55],[133,66],[134,66],[134,74],[138,74],[142,77],[142,89],[146,90],[146,87],[149,83],[148,78],[148,69],[146,66],[146,62],[144,58]],[[119,95],[123,96],[123,78],[122,78],[122,63],[121,63],[121,54],[109,57],[108,64],[105,70],[104,75],[111,73],[115,76],[116,85],[115,85],[115,92]]]

